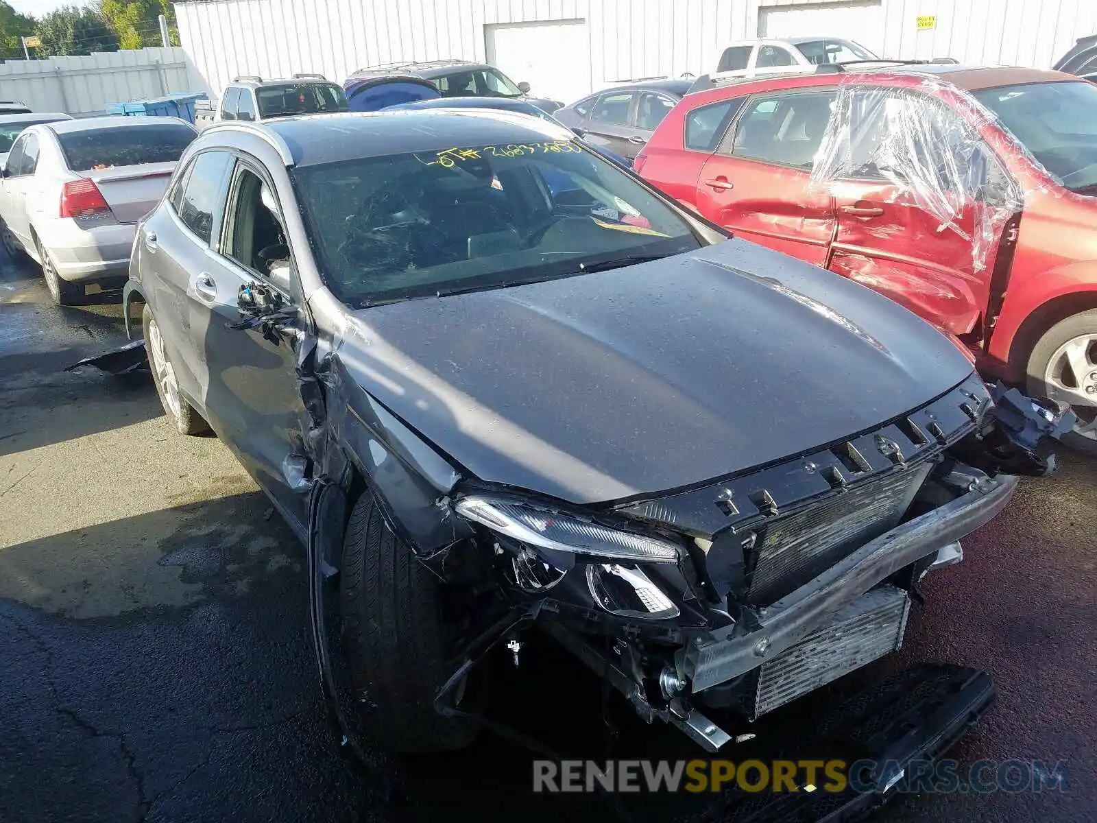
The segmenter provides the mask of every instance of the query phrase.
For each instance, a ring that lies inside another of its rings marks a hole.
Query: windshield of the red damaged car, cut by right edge
[[[1063,187],[1097,195],[1097,87],[1067,80],[973,93]]]

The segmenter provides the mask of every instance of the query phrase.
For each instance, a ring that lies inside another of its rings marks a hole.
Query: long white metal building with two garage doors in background
[[[704,74],[732,40],[826,34],[894,58],[1050,67],[1097,33],[1097,0],[210,0],[176,4],[192,74],[487,60],[573,101],[624,80]]]

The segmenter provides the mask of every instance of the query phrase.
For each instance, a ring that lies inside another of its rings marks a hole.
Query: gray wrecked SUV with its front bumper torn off
[[[307,544],[344,732],[405,752],[468,744],[531,631],[715,751],[897,647],[1064,425],[507,112],[213,126],[125,301],[174,425]]]

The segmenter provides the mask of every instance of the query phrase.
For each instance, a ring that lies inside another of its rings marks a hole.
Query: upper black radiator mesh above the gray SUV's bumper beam
[[[747,599],[768,606],[893,528],[929,470],[928,464],[898,470],[774,517],[755,532],[748,550]]]

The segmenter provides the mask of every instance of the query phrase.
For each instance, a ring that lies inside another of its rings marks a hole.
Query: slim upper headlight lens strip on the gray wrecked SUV
[[[455,508],[468,520],[551,552],[641,563],[678,562],[678,546],[669,540],[610,529],[528,503],[473,495],[459,500]]]

